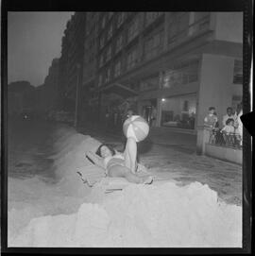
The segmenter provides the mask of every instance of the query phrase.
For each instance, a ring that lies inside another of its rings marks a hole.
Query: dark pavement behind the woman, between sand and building
[[[122,150],[125,138],[121,133],[105,132],[102,128],[80,128],[80,132],[115,145]],[[242,166],[195,153],[195,135],[167,132],[159,139],[138,145],[140,162],[159,179],[174,179],[185,185],[198,181],[208,184],[219,197],[232,204],[242,204]]]

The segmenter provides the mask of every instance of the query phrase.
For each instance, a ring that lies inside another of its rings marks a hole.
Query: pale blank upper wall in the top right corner
[[[215,39],[243,43],[243,12],[215,12]]]

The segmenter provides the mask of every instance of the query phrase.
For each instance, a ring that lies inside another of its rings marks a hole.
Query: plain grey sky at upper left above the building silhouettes
[[[8,83],[43,83],[54,58],[60,57],[61,38],[74,12],[8,12]]]

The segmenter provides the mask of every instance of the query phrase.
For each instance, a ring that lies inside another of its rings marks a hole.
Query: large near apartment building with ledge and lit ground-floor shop
[[[242,12],[96,15],[96,100],[90,110],[99,108],[101,118],[127,101],[148,121],[155,107],[153,126],[196,133],[209,107],[221,119],[242,100]],[[84,74],[89,81],[89,69]]]

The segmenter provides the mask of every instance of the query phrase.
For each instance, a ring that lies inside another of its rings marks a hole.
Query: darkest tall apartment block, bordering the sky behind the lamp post
[[[76,110],[76,88],[82,83],[86,13],[76,12],[62,37],[59,59],[59,96],[66,111]]]

